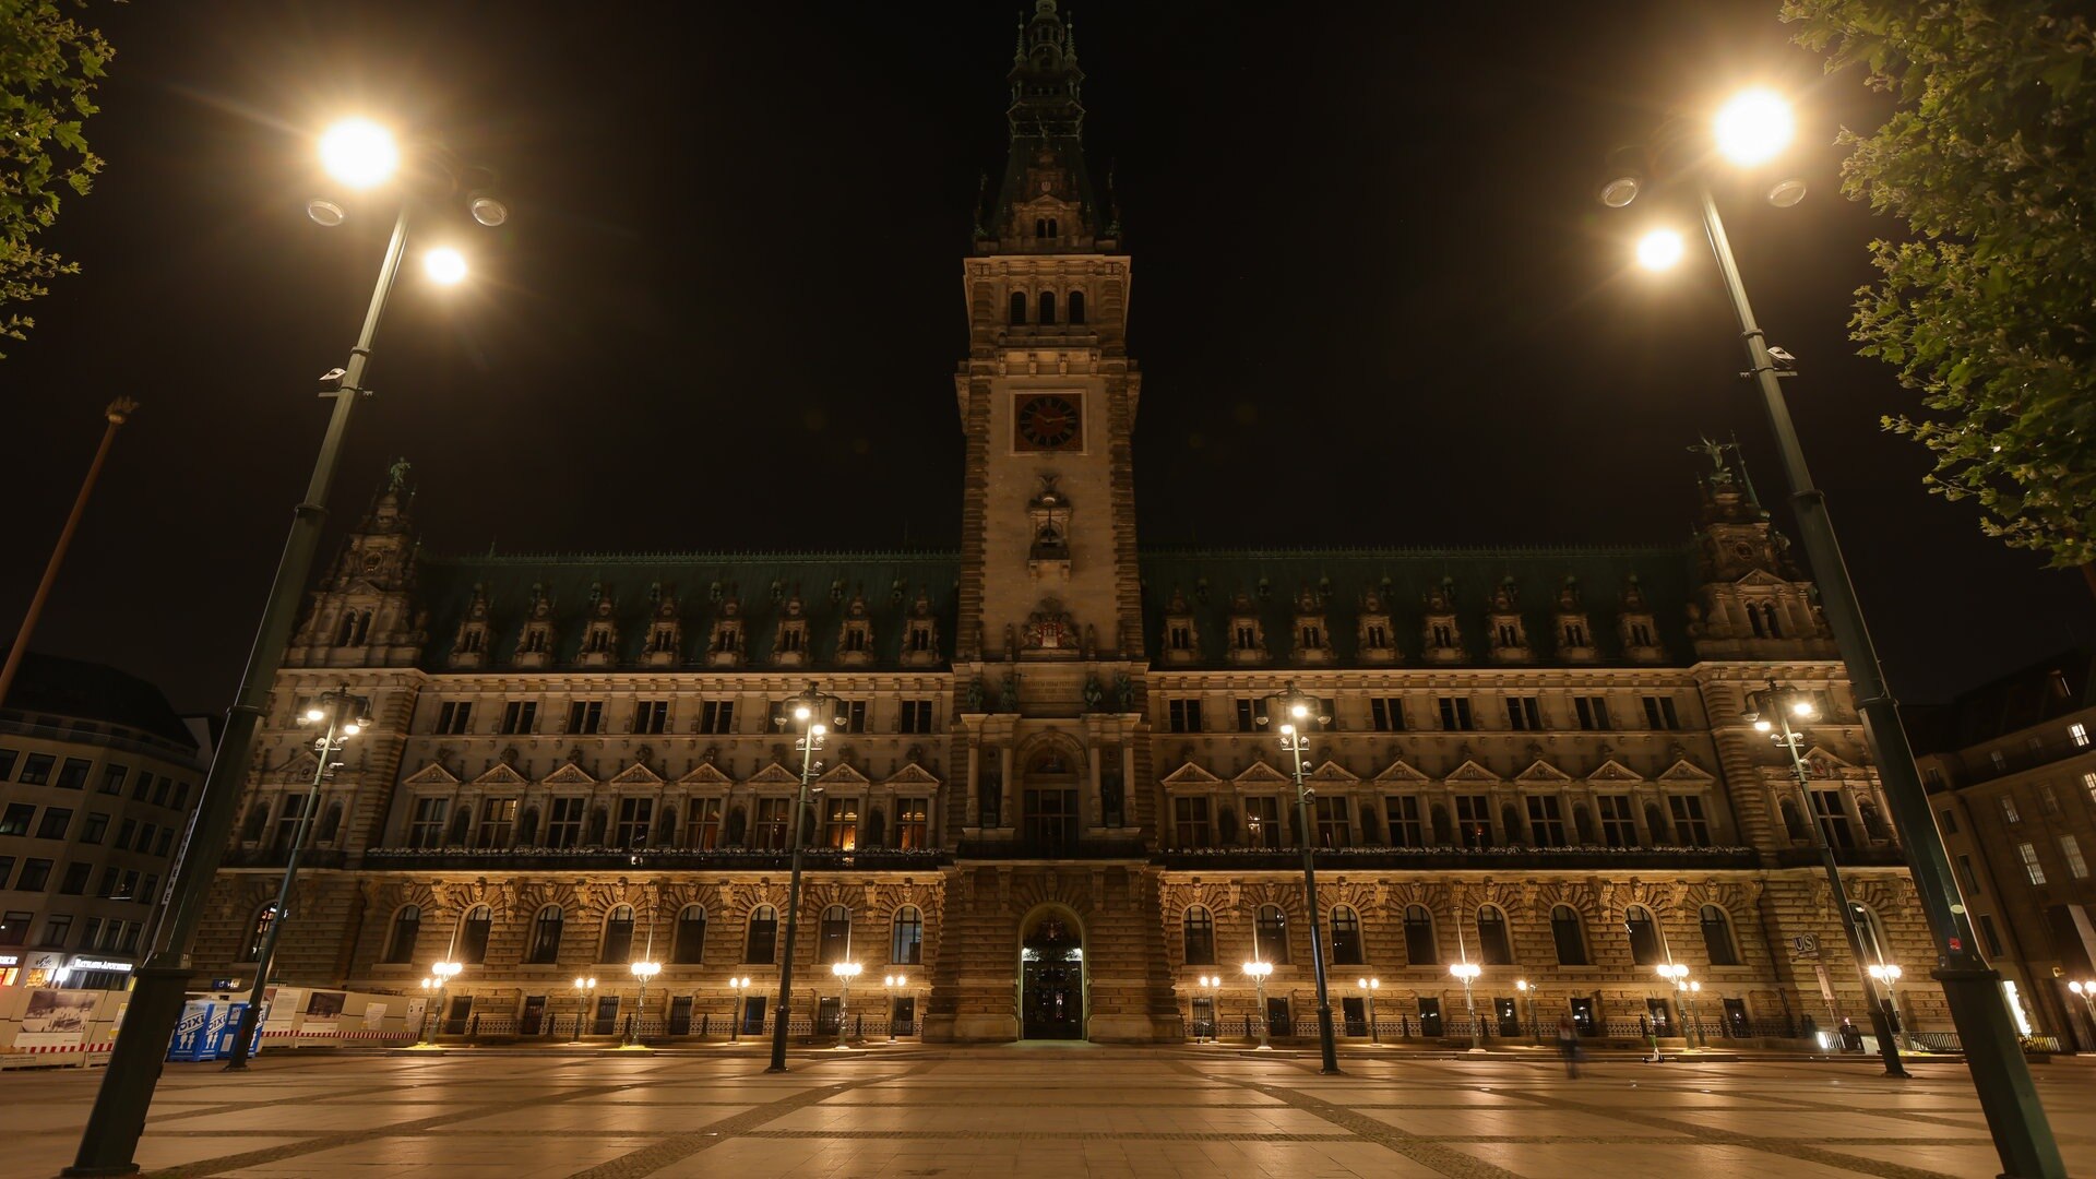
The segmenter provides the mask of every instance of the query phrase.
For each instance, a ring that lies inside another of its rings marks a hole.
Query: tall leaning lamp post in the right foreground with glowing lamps
[[[1784,403],[1777,380],[1777,357],[1754,321],[1746,283],[1740,279],[1740,264],[1731,256],[1725,222],[1710,195],[1710,183],[1721,162],[1729,162],[1750,176],[1750,170],[1773,164],[1794,132],[1796,117],[1780,94],[1746,90],[1710,117],[1671,120],[1647,143],[1612,153],[1610,172],[1597,195],[1603,206],[1616,210],[1629,208],[1645,195],[1652,197],[1643,201],[1643,208],[1656,208],[1662,216],[1637,241],[1637,260],[1650,271],[1671,269],[1685,256],[1683,237],[1664,224],[1664,214],[1679,216],[1685,203],[1694,203],[1702,214],[1719,277],[1740,321],[1748,376],[1754,380],[1769,415],[1784,476],[1790,483],[1798,539],[1805,543],[1805,556],[1819,583],[1819,602],[1840,648],[1857,711],[1863,717],[1863,738],[1884,785],[1893,824],[1905,845],[1922,913],[1928,917],[1937,955],[1930,978],[1943,984],[1943,996],[1966,1049],[1966,1066],[1972,1070],[1981,1110],[1987,1114],[1987,1129],[1993,1133],[1993,1145],[2002,1158],[2002,1171],[2016,1179],[2067,1175],[2052,1124],[2037,1103],[2031,1066],[2023,1059],[2023,1045],[2008,1017],[2002,976],[1987,965],[1972,938],[1964,896],[1951,877],[1949,854],[1943,850],[1928,793],[1914,768],[1914,749],[1899,722],[1899,703],[1884,684],[1876,646],[1863,625],[1863,606],[1857,602],[1849,566],[1842,562],[1840,543],[1834,537],[1826,493],[1813,485],[1811,470],[1805,466],[1805,449],[1790,422],[1790,407]],[[1765,187],[1763,195],[1775,208],[1796,206],[1805,199],[1805,180],[1780,178]]]

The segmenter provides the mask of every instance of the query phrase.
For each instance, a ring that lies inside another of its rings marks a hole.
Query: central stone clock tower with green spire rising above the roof
[[[1082,82],[1073,31],[1038,0],[1012,55],[1010,159],[964,264],[968,359],[954,378],[968,438],[956,655],[1019,663],[1042,688],[1069,676],[1025,665],[1142,650],[1130,260],[1086,172]]]

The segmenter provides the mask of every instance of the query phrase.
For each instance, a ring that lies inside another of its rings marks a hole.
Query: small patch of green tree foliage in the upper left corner
[[[103,168],[82,124],[113,50],[73,13],[84,0],[0,0],[0,336],[23,340],[36,321],[21,304],[80,271],[36,245],[59,218],[65,189],[86,193]]]

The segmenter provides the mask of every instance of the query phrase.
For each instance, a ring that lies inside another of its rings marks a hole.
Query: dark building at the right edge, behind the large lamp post
[[[1922,780],[2027,1032],[2096,1047],[2096,655],[2069,650],[1918,715]]]

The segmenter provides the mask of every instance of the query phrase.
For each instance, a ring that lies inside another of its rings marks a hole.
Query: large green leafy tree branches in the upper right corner
[[[1849,327],[1928,413],[1930,491],[2052,564],[2096,560],[2096,65],[2086,4],[1786,0],[1798,44],[1895,99],[1842,191],[1905,220]]]

